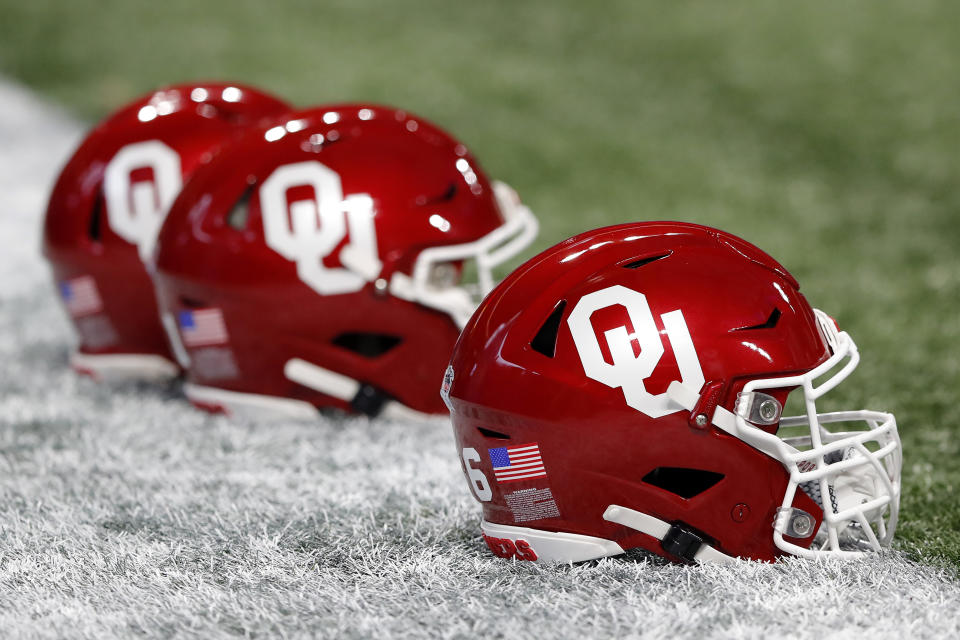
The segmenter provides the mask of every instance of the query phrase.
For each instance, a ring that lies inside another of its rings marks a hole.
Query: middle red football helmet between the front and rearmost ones
[[[404,111],[318,107],[250,130],[160,233],[186,394],[226,413],[442,412],[460,327],[536,230],[466,147]]]

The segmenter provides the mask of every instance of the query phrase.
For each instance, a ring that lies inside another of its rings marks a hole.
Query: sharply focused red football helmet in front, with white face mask
[[[753,245],[670,222],[591,231],[508,276],[441,390],[493,552],[722,561],[889,545],[896,421],[817,412],[859,356],[798,286]],[[805,415],[781,418],[794,390]]]

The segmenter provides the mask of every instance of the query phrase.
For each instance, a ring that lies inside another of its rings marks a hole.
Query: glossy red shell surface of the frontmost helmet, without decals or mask
[[[665,257],[643,263],[656,256]],[[675,310],[682,311],[696,349],[703,389],[731,411],[746,381],[804,372],[829,355],[796,281],[739,238],[697,225],[649,222],[562,242],[487,296],[452,358],[457,450],[480,452],[477,466],[492,484],[484,519],[515,525],[505,491],[549,487],[560,517],[522,526],[606,538],[624,549],[639,546],[665,555],[654,538],[603,520],[607,506],[616,504],[685,523],[724,553],[772,560],[779,552],[771,523],[787,484],[779,462],[712,425],[698,427],[689,411],[648,417],[626,404],[622,388],[585,374],[567,321],[581,298],[613,285],[643,293],[656,320],[664,353],[644,380],[650,393],[662,393],[681,377],[661,317]],[[566,306],[555,354],[548,357],[531,340],[560,301]],[[776,325],[763,327],[774,309],[780,314]],[[612,360],[605,333],[618,327],[636,332],[622,306],[599,309],[591,322],[607,363]],[[635,341],[634,354],[639,353]],[[776,395],[783,401],[788,391]],[[547,476],[494,482],[487,451],[528,442],[539,444]],[[711,471],[723,479],[682,498],[643,481],[658,467]],[[818,520],[822,515],[800,491],[794,506]]]

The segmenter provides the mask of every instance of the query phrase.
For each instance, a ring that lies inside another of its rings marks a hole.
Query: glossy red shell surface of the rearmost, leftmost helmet
[[[108,345],[86,343],[81,332],[81,353],[155,354],[173,360],[137,245],[110,223],[103,185],[110,161],[131,144],[160,141],[179,156],[185,178],[241,129],[288,109],[243,85],[176,85],[134,100],[87,135],[54,186],[43,236],[55,281],[92,276],[103,300],[101,313],[116,332],[117,339]],[[145,168],[130,175],[131,181],[154,178]]]

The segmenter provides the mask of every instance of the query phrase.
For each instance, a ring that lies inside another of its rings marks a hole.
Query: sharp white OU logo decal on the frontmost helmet
[[[612,306],[623,306],[633,324],[634,335],[626,327],[604,332],[613,364],[603,359],[599,337],[590,317],[594,312]],[[687,330],[687,322],[679,309],[660,316],[680,368],[685,386],[699,390],[703,386],[703,371]],[[663,357],[663,341],[653,319],[647,297],[639,291],[620,285],[607,287],[583,296],[567,318],[573,342],[580,354],[583,371],[588,377],[611,388],[622,388],[627,404],[651,418],[660,418],[683,409],[671,402],[666,393],[649,393],[644,380],[653,375]],[[633,354],[631,340],[640,342],[640,355]]]

